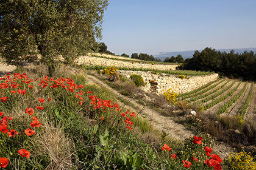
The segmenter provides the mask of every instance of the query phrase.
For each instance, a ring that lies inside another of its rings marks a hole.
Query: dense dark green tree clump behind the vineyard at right
[[[256,54],[252,51],[235,53],[234,50],[227,53],[207,47],[202,52],[196,50],[193,58],[187,59],[180,69],[217,72],[230,78],[256,80]]]

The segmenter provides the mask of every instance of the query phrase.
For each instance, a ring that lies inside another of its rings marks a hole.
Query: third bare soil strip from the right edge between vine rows
[[[238,84],[239,82],[236,82],[236,83]],[[236,83],[235,83],[232,87],[235,88],[236,85],[237,85]],[[237,95],[237,94],[243,89],[244,85],[245,85],[245,83],[241,83],[240,86],[238,87],[238,89],[235,90],[235,92],[233,92],[233,94],[232,94],[231,96],[227,97],[225,100],[219,102],[218,104],[215,104],[213,107],[211,107],[210,109],[207,109],[205,112],[206,112],[207,114],[216,114],[217,110],[218,110],[221,106],[223,106],[227,101],[229,101],[230,98],[232,98],[232,97],[234,97],[235,95]],[[232,88],[232,89],[233,89],[233,88]],[[228,92],[225,92],[225,93],[224,93],[225,95],[230,92],[230,90],[227,90],[227,91],[228,91]]]

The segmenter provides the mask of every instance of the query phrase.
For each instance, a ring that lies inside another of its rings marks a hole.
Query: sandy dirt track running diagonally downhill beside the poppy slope
[[[155,110],[152,110],[147,106],[138,104],[136,101],[119,94],[117,90],[108,86],[101,80],[98,80],[98,78],[93,77],[92,75],[86,75],[86,78],[88,80],[88,83],[96,83],[102,87],[111,90],[115,95],[118,95],[119,97],[124,98],[127,101],[130,101],[130,103],[132,103],[133,106],[135,107],[130,107],[122,102],[119,102],[118,104],[120,104],[121,106],[126,106],[127,109],[135,110],[135,112],[140,112],[141,109],[143,109],[144,107],[144,109],[141,112],[141,117],[148,118],[150,122],[152,121],[154,127],[158,129],[158,131],[165,131],[167,134],[169,134],[169,137],[174,138],[176,140],[185,140],[185,138],[194,135],[192,131],[186,129],[182,124],[176,123],[174,120],[171,120],[168,117],[160,115]],[[232,149],[225,143],[218,143],[213,147],[213,149],[216,152],[216,154],[218,154],[221,158],[227,157],[227,155],[229,155],[229,152],[232,152]]]

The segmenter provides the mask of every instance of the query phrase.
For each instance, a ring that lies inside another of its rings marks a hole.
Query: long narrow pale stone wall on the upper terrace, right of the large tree
[[[76,60],[77,64],[94,65],[94,66],[114,66],[127,68],[155,69],[155,70],[176,70],[177,64],[147,64],[133,61],[113,60],[111,58],[100,58],[96,56],[80,56]]]

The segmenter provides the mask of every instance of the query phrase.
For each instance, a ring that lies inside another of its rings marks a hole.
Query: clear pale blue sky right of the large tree
[[[256,47],[256,0],[109,0],[101,42],[121,53]]]

